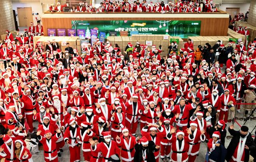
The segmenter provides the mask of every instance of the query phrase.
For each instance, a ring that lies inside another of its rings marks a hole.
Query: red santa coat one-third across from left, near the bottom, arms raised
[[[89,133],[85,130],[84,133],[82,133],[82,130],[80,129],[79,133],[79,143],[82,144],[82,150],[83,152],[90,152],[91,151],[91,144],[89,141],[90,138],[94,137],[96,134],[90,130]]]

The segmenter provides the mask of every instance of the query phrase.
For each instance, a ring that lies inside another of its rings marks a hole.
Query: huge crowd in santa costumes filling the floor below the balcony
[[[61,51],[54,40],[43,49],[22,35],[8,45],[6,37],[0,47],[6,162],[32,160],[24,140],[34,131],[46,162],[57,162],[64,145],[70,162],[80,161],[81,151],[90,162],[194,162],[202,142],[210,162],[248,162],[255,153],[247,126],[230,125],[233,138],[224,144],[234,105],[256,98],[256,40],[213,47],[172,42],[169,51],[137,42],[122,53],[97,39],[81,45],[81,54],[69,46]]]

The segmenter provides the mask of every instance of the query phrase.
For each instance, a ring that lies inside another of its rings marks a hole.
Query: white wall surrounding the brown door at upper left
[[[42,10],[42,5],[41,3],[12,3],[12,10],[16,11],[16,14],[18,14],[17,12],[17,8],[19,7],[31,7],[32,8],[32,14],[34,13],[33,16],[33,21],[34,21],[34,25],[36,25],[36,13],[39,13],[39,15],[41,16],[43,14],[43,10]],[[17,22],[18,22],[18,26],[19,26],[19,18],[18,16],[16,16]]]

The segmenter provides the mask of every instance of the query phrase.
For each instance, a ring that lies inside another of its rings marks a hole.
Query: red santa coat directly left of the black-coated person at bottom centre
[[[116,141],[118,147],[121,147],[121,159],[130,162],[134,159],[134,146],[137,143],[136,138],[129,133],[129,138],[126,140],[124,135],[121,134],[120,140]]]

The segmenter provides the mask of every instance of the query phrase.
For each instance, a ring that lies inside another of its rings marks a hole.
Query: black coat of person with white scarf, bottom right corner
[[[228,150],[228,154],[226,156],[227,161],[229,161],[233,156],[234,151],[240,140],[240,131],[228,128],[228,132],[230,132],[233,138],[230,141],[230,144],[228,145],[228,148],[227,148]],[[254,143],[251,133],[249,133],[249,135],[247,136],[245,144],[249,147],[249,150],[244,149],[244,162],[248,162],[250,152],[255,152],[255,149],[256,149],[256,145]]]

